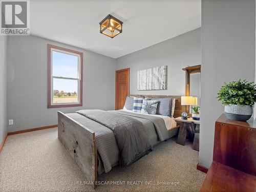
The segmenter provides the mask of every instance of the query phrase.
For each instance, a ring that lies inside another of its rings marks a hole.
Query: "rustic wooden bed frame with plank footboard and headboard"
[[[141,95],[131,95],[141,96]],[[144,95],[148,98],[175,98],[174,117],[185,110],[181,106],[180,96]],[[179,126],[169,131],[169,137],[177,135]],[[97,146],[95,133],[69,116],[58,111],[58,139],[66,147],[68,153],[82,170],[86,179],[96,189],[97,187]],[[118,163],[115,163],[118,165]],[[114,166],[114,165],[113,165]]]

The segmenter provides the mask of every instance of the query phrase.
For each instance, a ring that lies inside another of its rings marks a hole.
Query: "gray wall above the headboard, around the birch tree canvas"
[[[116,70],[130,68],[130,93],[184,95],[185,72],[182,68],[201,64],[201,29],[165,40],[154,46],[116,59]],[[167,90],[138,91],[137,71],[168,66]]]

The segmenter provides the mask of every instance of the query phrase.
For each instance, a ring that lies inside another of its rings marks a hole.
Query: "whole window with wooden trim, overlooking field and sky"
[[[48,44],[48,108],[82,106],[81,52]]]

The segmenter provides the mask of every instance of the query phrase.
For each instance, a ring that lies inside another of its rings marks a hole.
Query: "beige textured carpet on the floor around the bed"
[[[158,144],[129,167],[99,176],[124,184],[100,185],[96,191],[199,191],[205,178],[196,169],[199,153],[175,140]],[[8,136],[0,154],[0,191],[94,191],[82,181],[86,178],[57,139],[57,128]]]

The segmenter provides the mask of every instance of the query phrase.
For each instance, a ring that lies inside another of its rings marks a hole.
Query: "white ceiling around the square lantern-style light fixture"
[[[201,26],[201,0],[31,0],[31,34],[117,58]],[[112,14],[123,22],[113,39],[99,33]]]

